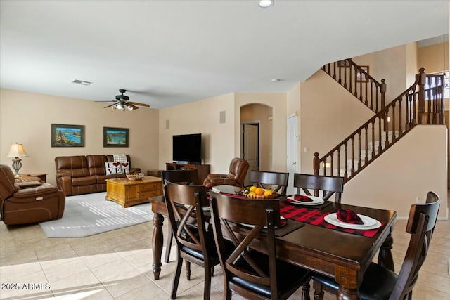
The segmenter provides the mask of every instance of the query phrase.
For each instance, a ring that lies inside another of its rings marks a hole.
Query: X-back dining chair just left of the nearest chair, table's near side
[[[176,298],[183,259],[186,271],[190,263],[202,266],[205,270],[204,299],[210,299],[213,267],[218,265],[219,256],[214,245],[212,230],[207,231],[209,223],[203,214],[208,207],[204,185],[181,185],[165,181],[164,195],[170,226],[176,241],[176,271],[172,283],[170,299]],[[188,280],[190,280],[190,275]]]

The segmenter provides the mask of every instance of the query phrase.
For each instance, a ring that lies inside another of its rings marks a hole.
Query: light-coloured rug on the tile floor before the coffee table
[[[105,195],[103,192],[66,197],[63,218],[39,225],[47,237],[87,237],[153,219],[150,203],[123,208],[105,200]]]

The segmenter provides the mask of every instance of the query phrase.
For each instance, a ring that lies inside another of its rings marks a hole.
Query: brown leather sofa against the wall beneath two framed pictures
[[[129,172],[138,173],[139,168],[131,167],[127,155]],[[121,178],[126,174],[106,175],[105,162],[114,162],[113,155],[78,155],[55,158],[56,183],[66,196],[98,193],[106,190],[105,179]]]

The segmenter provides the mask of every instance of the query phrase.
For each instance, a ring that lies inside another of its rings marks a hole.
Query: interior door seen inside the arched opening
[[[259,170],[259,124],[243,124],[242,157],[248,161],[249,167],[244,185],[250,185],[250,171]]]

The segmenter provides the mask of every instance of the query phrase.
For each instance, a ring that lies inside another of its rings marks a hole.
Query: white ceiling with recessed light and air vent
[[[127,89],[157,109],[285,92],[325,63],[447,34],[448,12],[449,1],[1,0],[0,86],[86,100]]]

